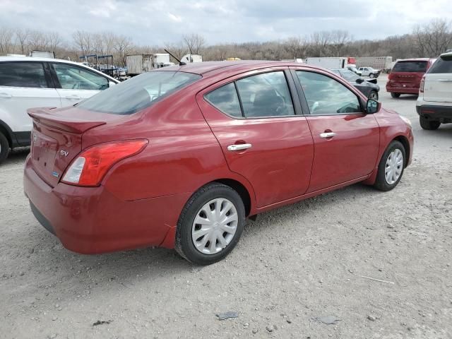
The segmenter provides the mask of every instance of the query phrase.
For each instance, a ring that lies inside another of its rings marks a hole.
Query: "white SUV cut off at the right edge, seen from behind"
[[[422,129],[452,122],[452,52],[441,54],[424,74],[416,110]]]

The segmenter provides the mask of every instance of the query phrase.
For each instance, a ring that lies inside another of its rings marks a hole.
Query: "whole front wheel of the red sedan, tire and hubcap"
[[[374,186],[381,191],[391,191],[397,186],[405,168],[405,148],[400,141],[393,141],[383,153]]]

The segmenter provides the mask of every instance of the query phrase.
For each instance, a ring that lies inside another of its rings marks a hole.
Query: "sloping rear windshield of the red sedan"
[[[175,71],[143,73],[103,90],[78,104],[78,107],[102,113],[133,114],[199,78],[198,74]]]

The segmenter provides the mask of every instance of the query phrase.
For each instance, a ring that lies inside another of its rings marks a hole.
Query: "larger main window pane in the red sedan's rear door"
[[[283,71],[248,76],[236,83],[246,118],[295,115]]]

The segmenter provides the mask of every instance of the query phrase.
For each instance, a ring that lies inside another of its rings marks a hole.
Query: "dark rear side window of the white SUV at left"
[[[40,62],[1,62],[0,86],[47,88],[44,66]]]

